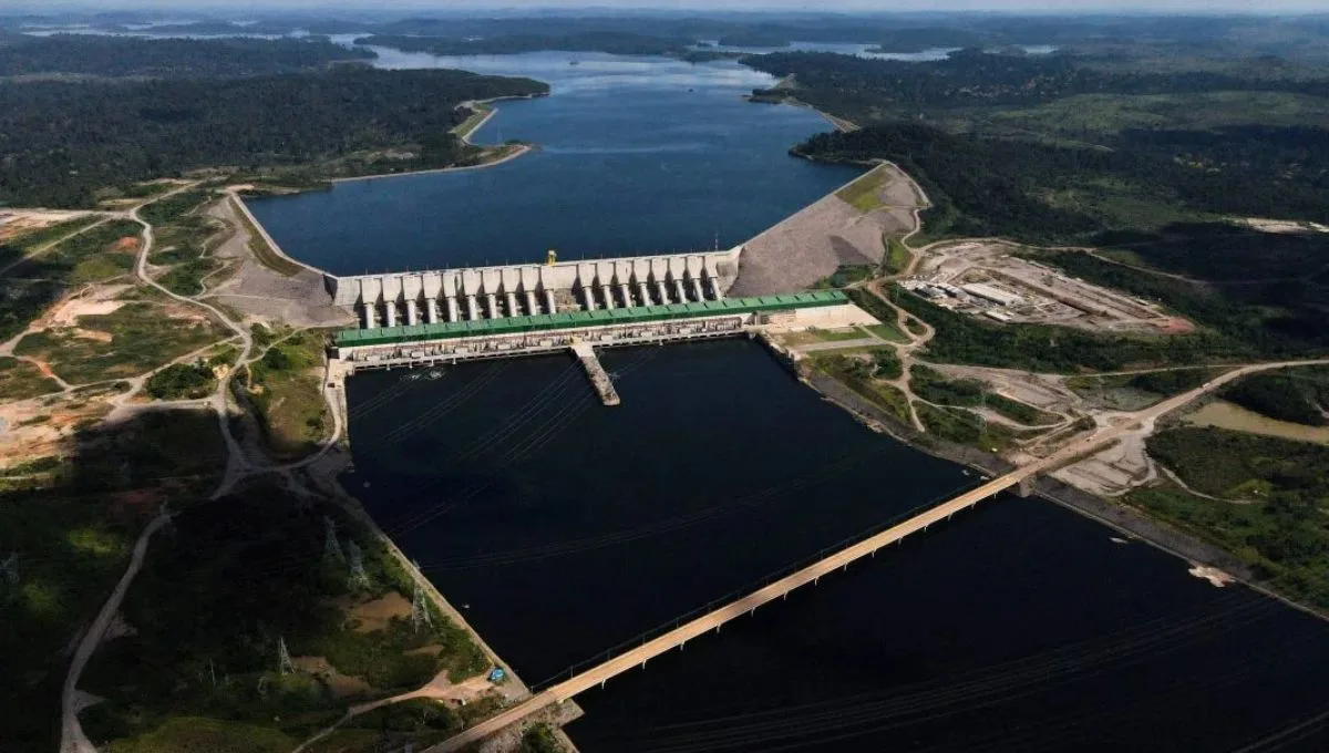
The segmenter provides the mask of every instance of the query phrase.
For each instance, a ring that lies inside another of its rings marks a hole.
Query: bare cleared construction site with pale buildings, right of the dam
[[[965,240],[934,246],[901,284],[932,303],[1001,324],[1059,324],[1092,332],[1188,332],[1160,305],[1017,255],[1019,246]]]

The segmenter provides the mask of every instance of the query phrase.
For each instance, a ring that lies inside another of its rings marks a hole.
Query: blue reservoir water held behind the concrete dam
[[[550,97],[501,102],[476,134],[540,151],[250,206],[284,251],[350,275],[537,262],[548,248],[585,259],[731,247],[856,174],[788,155],[829,126],[812,110],[743,101],[772,82],[766,74],[728,61],[577,57],[387,57],[549,81]]]

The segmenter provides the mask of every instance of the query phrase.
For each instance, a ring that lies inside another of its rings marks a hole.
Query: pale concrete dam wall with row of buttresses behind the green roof
[[[372,329],[720,300],[738,279],[742,254],[739,246],[593,262],[328,275],[326,282],[334,303],[354,309],[360,327]]]

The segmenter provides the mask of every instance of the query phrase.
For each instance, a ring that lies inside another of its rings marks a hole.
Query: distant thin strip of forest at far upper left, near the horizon
[[[0,37],[0,77],[35,74],[189,78],[259,76],[376,57],[312,40],[141,40],[90,35]]]

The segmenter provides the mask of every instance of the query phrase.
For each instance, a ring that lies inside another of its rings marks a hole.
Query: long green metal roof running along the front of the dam
[[[439,321],[435,324],[377,327],[373,329],[343,329],[336,333],[336,344],[339,347],[389,345],[478,335],[513,335],[545,329],[571,329],[614,323],[666,321],[670,319],[691,319],[724,313],[788,311],[792,308],[839,305],[848,301],[848,296],[840,291],[808,291],[759,297],[637,305],[631,308],[566,311],[532,316],[509,316],[504,319],[477,319],[473,321]]]

